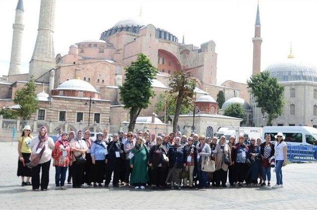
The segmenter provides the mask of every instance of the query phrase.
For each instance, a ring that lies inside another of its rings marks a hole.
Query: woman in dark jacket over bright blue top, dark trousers
[[[239,142],[232,146],[233,150],[231,151],[232,157],[234,157],[237,186],[244,186],[243,181],[246,179],[248,169],[246,161],[249,149],[243,142],[243,136],[239,136]]]

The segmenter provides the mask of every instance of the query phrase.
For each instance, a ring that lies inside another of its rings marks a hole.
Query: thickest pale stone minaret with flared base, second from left
[[[55,68],[53,46],[55,0],[41,0],[38,36],[30,61],[29,76],[35,79]]]

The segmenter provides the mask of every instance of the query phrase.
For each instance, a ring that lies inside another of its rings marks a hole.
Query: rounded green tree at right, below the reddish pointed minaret
[[[250,93],[262,114],[267,113],[267,125],[283,113],[284,86],[277,83],[276,78],[269,76],[268,71],[252,75],[247,81]]]

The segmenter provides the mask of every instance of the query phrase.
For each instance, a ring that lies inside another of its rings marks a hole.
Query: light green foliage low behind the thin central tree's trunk
[[[176,108],[176,94],[160,94],[159,95],[160,100],[155,105],[155,112],[161,112],[165,111],[165,102],[166,102],[166,114],[167,115],[174,115],[175,114],[175,108]],[[193,111],[194,105],[192,103],[185,104],[183,103],[181,105],[180,114],[187,114],[190,111]]]

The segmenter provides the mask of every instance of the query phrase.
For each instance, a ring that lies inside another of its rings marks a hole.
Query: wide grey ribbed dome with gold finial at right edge
[[[288,58],[284,62],[273,63],[264,71],[269,71],[271,77],[278,82],[312,81],[317,82],[317,67]]]

